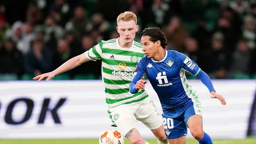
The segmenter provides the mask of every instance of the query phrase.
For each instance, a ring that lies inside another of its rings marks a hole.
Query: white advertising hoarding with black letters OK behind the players
[[[255,80],[213,80],[227,101],[212,99],[199,80],[188,80],[198,92],[203,108],[204,131],[212,138],[245,138],[255,96]],[[146,90],[161,105],[150,83]],[[94,81],[0,82],[0,139],[98,138],[111,127],[104,86]],[[154,138],[141,122],[144,138]],[[192,138],[188,130],[188,138]]]

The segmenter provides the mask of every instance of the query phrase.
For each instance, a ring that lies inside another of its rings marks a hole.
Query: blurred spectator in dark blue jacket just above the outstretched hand
[[[54,53],[45,47],[42,40],[35,40],[24,58],[25,73],[35,76],[54,69]]]

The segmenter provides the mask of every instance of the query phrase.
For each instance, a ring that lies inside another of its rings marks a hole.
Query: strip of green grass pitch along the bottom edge
[[[157,140],[146,139],[150,144],[156,144]],[[256,144],[256,138],[246,139],[213,139],[214,144]],[[198,144],[197,140],[187,139],[187,144]],[[0,144],[99,144],[97,139],[0,139]],[[125,139],[124,144],[130,144]]]

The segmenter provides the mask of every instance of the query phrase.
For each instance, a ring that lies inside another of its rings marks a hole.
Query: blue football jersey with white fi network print
[[[192,102],[193,90],[188,84],[185,70],[196,76],[201,69],[185,54],[165,50],[164,58],[160,61],[144,56],[138,62],[134,75],[142,78],[146,73],[162,108],[170,109]]]

